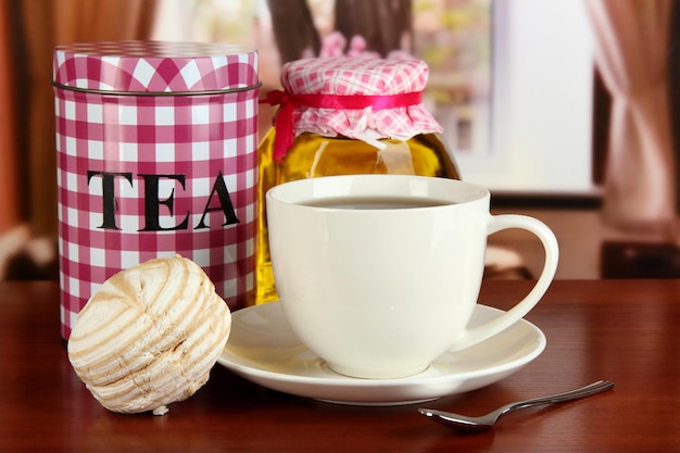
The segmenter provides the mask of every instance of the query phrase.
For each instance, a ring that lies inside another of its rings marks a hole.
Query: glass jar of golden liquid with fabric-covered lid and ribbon
[[[427,65],[414,59],[322,58],[284,66],[274,126],[259,147],[255,303],[277,299],[265,194],[282,183],[349,174],[459,179],[441,126],[425,110]]]

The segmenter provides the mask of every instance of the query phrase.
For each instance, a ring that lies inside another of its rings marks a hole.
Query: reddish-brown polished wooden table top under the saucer
[[[481,302],[506,309],[529,285],[486,281]],[[680,280],[555,281],[527,318],[547,337],[542,355],[498,383],[428,406],[478,414],[601,378],[615,389],[461,433],[414,405],[317,402],[216,365],[169,414],[119,415],[71,368],[56,284],[0,282],[0,452],[680,451]]]

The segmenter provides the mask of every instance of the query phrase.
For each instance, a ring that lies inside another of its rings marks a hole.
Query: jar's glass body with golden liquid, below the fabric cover
[[[259,147],[257,240],[255,246],[255,303],[277,299],[269,256],[265,194],[279,184],[320,176],[354,174],[418,175],[461,179],[455,161],[439,134],[421,134],[401,141],[381,139],[382,149],[347,137],[303,133],[281,162],[273,159],[276,129]]]

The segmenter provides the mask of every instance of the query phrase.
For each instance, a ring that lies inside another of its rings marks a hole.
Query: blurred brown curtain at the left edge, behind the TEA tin
[[[54,46],[146,39],[155,5],[156,0],[0,1],[0,279],[55,275]],[[17,256],[25,264],[20,270],[13,267]]]

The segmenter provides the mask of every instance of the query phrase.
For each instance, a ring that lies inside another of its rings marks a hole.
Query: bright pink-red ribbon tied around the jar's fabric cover
[[[274,160],[280,162],[293,146],[295,108],[373,110],[398,109],[417,105],[423,102],[423,91],[399,95],[290,95],[281,90],[272,90],[260,103],[280,105],[274,119]]]

